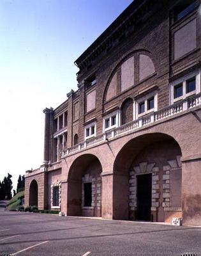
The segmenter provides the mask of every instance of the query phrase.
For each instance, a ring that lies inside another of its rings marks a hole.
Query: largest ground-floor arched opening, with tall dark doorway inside
[[[114,180],[115,218],[181,218],[181,148],[174,138],[151,133],[128,141],[117,154],[114,173],[122,173]]]

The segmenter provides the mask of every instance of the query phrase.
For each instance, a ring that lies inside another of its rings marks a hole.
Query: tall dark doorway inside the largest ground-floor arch
[[[137,175],[137,220],[151,221],[152,174]]]

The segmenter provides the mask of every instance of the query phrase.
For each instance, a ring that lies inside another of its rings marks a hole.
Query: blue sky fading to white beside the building
[[[43,161],[43,109],[77,90],[74,61],[131,0],[0,1],[0,180]]]

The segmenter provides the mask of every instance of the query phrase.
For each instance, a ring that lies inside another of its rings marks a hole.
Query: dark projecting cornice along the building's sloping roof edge
[[[121,42],[124,33],[131,27],[140,26],[140,21],[145,21],[147,13],[161,5],[166,0],[135,0],[124,10],[117,19],[91,44],[86,51],[75,61],[75,65],[82,71],[88,67],[103,51],[110,49],[115,40]]]

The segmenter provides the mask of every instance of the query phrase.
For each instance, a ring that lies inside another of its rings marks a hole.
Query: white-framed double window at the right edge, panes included
[[[200,92],[200,72],[192,72],[170,84],[170,104]]]

